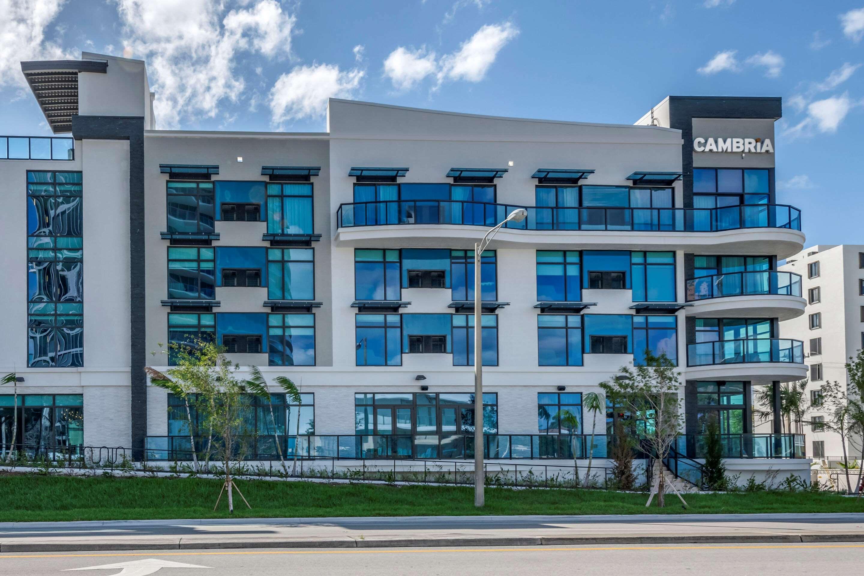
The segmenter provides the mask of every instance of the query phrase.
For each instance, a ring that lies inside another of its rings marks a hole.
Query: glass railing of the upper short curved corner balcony
[[[801,275],[761,270],[702,276],[687,281],[686,294],[688,302],[753,294],[780,294],[800,298]]]

